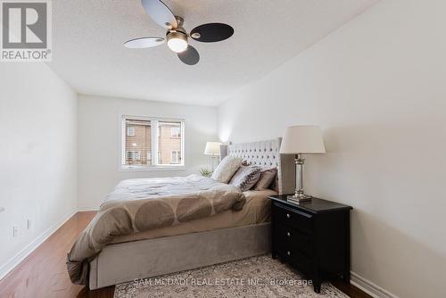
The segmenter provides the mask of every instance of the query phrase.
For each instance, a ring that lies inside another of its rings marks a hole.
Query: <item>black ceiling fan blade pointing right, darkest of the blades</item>
[[[192,29],[190,36],[203,43],[215,43],[232,37],[234,29],[223,23],[202,24]]]

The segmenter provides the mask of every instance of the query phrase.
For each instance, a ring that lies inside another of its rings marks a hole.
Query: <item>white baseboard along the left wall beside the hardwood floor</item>
[[[57,229],[61,228],[62,225],[70,218],[73,217],[78,211],[74,211],[59,219],[53,226],[48,228],[40,236],[37,236],[30,244],[25,246],[20,252],[12,257],[10,261],[7,261],[2,267],[0,267],[0,280],[8,275],[13,269],[15,269],[21,261],[25,260],[31,252],[34,252],[40,244],[43,244],[49,236],[52,236]]]

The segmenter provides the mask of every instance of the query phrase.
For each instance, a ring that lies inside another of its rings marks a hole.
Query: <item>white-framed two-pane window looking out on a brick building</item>
[[[184,165],[184,121],[122,117],[122,169]]]

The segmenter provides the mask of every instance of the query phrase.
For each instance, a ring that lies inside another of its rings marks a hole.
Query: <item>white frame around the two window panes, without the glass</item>
[[[152,127],[152,164],[151,165],[135,165],[135,164],[125,164],[126,158],[126,137],[127,129],[126,129],[126,120],[146,120],[151,121]],[[155,122],[156,121],[156,122]],[[177,164],[158,164],[158,137],[160,127],[158,126],[158,122],[180,122],[180,134],[181,134],[181,149],[180,149],[180,158],[181,162]],[[186,150],[185,150],[185,119],[184,118],[168,118],[168,117],[146,117],[146,116],[132,116],[132,115],[120,115],[120,161],[119,161],[119,170],[120,171],[141,171],[141,170],[186,170]],[[155,124],[155,125],[153,125]],[[154,154],[156,152],[156,154]],[[156,155],[156,156],[154,156]],[[153,161],[156,161],[154,164]]]

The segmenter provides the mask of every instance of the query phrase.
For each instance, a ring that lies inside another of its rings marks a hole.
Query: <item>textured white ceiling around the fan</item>
[[[245,84],[325,37],[376,0],[166,0],[185,28],[225,22],[226,41],[191,41],[201,61],[188,66],[166,44],[135,50],[130,38],[165,36],[139,0],[53,1],[49,66],[78,93],[218,105]]]

